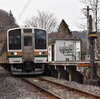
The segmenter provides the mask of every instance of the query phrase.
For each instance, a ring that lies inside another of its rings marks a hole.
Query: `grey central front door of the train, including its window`
[[[33,44],[33,34],[23,33],[22,36],[22,50],[23,50],[23,60],[33,61],[34,59],[34,44]]]

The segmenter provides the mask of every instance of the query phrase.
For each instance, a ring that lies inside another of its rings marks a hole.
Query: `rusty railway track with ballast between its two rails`
[[[54,99],[70,99],[72,97],[83,97],[84,99],[100,99],[100,96],[85,92],[71,86],[67,86],[64,83],[58,83],[56,81],[46,79],[45,77],[36,78],[22,78],[24,81],[31,83],[41,90],[50,94]],[[73,98],[74,99],[74,98]]]

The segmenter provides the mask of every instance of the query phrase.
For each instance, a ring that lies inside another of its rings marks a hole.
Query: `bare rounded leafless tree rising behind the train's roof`
[[[57,26],[57,18],[54,17],[53,13],[38,11],[38,14],[30,20],[26,20],[25,24],[28,26],[35,26],[44,28],[47,32],[52,32]]]

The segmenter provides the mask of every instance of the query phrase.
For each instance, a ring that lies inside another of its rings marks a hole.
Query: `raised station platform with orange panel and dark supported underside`
[[[98,62],[99,61],[95,61],[96,67],[99,67],[97,65]],[[53,61],[53,62],[48,62],[48,67],[52,72],[52,76],[58,79],[62,78],[68,81],[85,83],[90,76],[90,70],[89,70],[90,61],[69,61],[69,62]]]

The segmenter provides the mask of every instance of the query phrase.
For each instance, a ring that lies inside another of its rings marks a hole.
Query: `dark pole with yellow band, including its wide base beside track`
[[[87,81],[88,84],[99,85],[96,77],[95,68],[95,39],[97,39],[97,32],[94,31],[92,16],[89,15],[89,6],[87,6],[87,39],[88,39],[88,54],[90,55],[90,80]],[[90,53],[89,53],[90,51]]]

